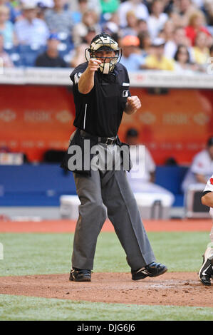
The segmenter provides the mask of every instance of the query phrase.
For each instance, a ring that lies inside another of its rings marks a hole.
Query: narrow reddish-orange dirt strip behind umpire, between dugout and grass
[[[143,220],[147,232],[192,232],[210,231],[212,220]],[[76,220],[4,221],[0,220],[0,232],[74,232]],[[103,225],[102,232],[113,232],[110,221]]]

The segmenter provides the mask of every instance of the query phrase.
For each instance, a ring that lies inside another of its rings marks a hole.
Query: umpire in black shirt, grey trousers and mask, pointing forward
[[[126,68],[119,63],[121,49],[106,33],[100,33],[85,50],[86,62],[71,73],[76,106],[75,132],[71,135],[68,152],[62,167],[73,157],[73,145],[80,146],[83,159],[85,140],[90,148],[97,145],[113,159],[113,167],[121,156],[119,150],[125,143],[118,138],[123,112],[135,113],[141,106],[137,96],[130,96],[130,81]],[[127,145],[126,145],[127,146]],[[128,148],[128,146],[127,146]],[[71,153],[72,152],[72,153]],[[128,180],[126,170],[95,169],[90,157],[90,167],[73,169],[76,192],[80,199],[79,217],[73,242],[70,280],[90,282],[95,247],[103,223],[108,216],[118,239],[125,250],[132,279],[156,277],[167,271],[157,263],[149,239],[142,225],[139,210]],[[123,162],[123,158],[122,158]],[[115,259],[116,262],[116,259]]]

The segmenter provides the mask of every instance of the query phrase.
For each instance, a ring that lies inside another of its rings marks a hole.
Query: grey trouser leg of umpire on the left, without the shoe
[[[73,242],[72,265],[76,269],[93,269],[98,234],[106,219],[100,190],[99,171],[91,170],[91,177],[73,174],[80,199],[79,217]]]

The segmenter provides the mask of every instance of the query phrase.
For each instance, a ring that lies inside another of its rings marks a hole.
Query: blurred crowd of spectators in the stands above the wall
[[[206,72],[213,62],[212,0],[0,0],[5,67],[76,67],[101,31],[128,71]]]

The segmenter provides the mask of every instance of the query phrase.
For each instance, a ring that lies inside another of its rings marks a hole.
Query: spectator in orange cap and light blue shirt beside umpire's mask
[[[145,60],[140,54],[140,40],[137,36],[125,36],[121,39],[123,48],[122,63],[128,71],[138,71],[143,67]]]

